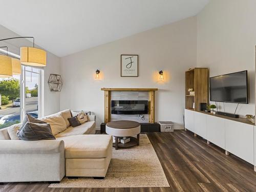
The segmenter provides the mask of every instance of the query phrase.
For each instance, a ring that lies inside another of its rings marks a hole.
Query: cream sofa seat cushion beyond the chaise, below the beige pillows
[[[91,130],[94,127],[94,124],[95,124],[95,121],[89,121],[76,127],[69,126],[67,130],[55,135],[55,137],[57,138],[57,137],[68,137],[72,135],[90,134]]]

